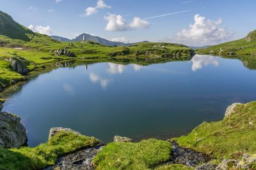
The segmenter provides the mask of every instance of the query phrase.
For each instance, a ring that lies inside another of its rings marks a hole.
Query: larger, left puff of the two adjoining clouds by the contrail
[[[121,15],[108,13],[108,16],[104,17],[108,24],[106,25],[106,31],[127,31],[126,20]]]

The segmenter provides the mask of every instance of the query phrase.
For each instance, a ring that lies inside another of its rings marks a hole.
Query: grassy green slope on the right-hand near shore
[[[212,159],[239,159],[256,153],[256,102],[236,106],[220,122],[204,122],[187,136],[174,138],[180,146],[211,155]]]

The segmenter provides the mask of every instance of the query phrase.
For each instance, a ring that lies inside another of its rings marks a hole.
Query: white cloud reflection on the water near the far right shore
[[[216,57],[210,55],[195,55],[192,59],[192,70],[196,71],[198,69],[202,69],[203,66],[208,66],[212,64],[215,67],[219,66],[219,61]]]

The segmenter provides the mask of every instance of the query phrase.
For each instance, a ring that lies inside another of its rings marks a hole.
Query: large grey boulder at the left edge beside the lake
[[[19,148],[26,142],[26,129],[20,124],[20,117],[0,112],[0,147]]]

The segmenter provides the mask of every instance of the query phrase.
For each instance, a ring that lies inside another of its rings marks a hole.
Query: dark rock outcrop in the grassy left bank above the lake
[[[17,73],[20,73],[20,74],[29,73],[29,69],[28,69],[29,62],[26,59],[22,57],[10,57],[4,60],[10,62],[13,71],[16,71]]]

